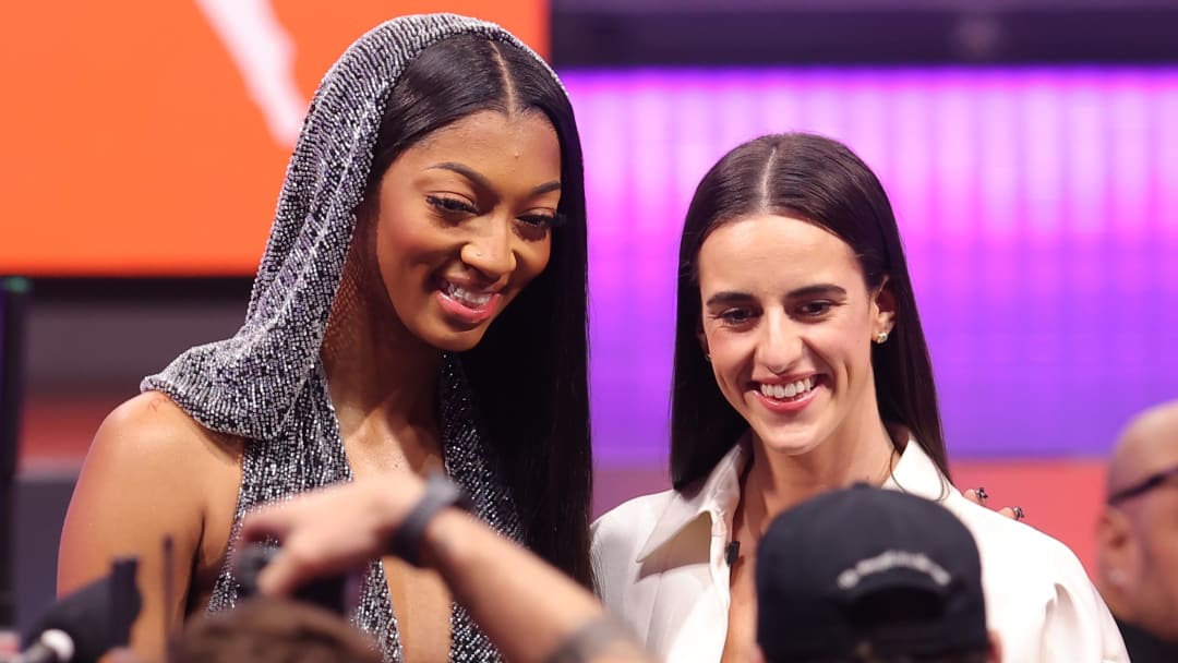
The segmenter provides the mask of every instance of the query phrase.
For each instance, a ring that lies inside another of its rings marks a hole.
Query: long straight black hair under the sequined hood
[[[548,267],[462,353],[481,415],[523,523],[528,546],[591,585],[587,239],[584,171],[573,107],[534,55],[504,41],[458,35],[406,68],[382,118],[368,184],[430,133],[479,111],[543,113],[561,145],[563,224]]]

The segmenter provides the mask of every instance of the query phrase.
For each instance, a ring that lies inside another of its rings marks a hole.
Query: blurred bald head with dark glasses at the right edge
[[[1143,412],[1118,439],[1097,546],[1113,614],[1178,643],[1178,402]]]

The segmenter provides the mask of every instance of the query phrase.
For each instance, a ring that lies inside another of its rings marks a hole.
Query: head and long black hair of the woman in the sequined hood
[[[364,309],[462,353],[527,543],[588,583],[584,177],[560,81],[505,41],[425,48],[390,93],[357,217]]]

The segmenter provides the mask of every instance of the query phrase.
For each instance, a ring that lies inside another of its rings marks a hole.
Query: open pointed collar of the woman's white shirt
[[[908,443],[882,488],[918,495],[934,502],[941,502],[957,492],[915,438],[907,431],[902,435],[907,436]],[[740,471],[750,456],[749,444],[752,436],[746,432],[728,453],[720,458],[702,484],[697,483],[671,493],[667,509],[638,551],[636,562],[646,561],[703,515],[708,515],[713,524],[728,521],[740,500]]]

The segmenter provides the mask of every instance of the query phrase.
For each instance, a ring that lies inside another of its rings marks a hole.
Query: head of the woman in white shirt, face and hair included
[[[803,453],[880,419],[908,427],[947,473],[887,195],[834,140],[746,142],[704,175],[683,225],[671,479],[706,476],[748,427]]]

